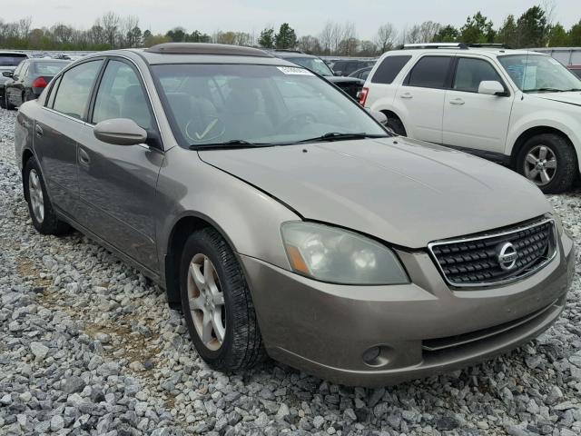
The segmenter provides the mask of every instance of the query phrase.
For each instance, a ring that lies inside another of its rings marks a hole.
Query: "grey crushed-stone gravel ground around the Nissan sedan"
[[[275,362],[213,372],[142,274],[79,233],[34,232],[14,121],[0,110],[0,434],[581,434],[578,273],[553,328],[463,371],[376,390]],[[581,193],[550,200],[581,242]]]

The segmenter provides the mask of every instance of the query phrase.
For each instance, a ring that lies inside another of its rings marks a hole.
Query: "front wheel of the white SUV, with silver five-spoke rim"
[[[530,138],[517,157],[517,170],[537,184],[543,193],[563,193],[575,182],[576,154],[557,134]]]

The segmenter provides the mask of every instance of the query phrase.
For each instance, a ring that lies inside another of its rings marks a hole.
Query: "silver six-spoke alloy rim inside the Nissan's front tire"
[[[193,256],[188,271],[193,325],[206,348],[217,351],[226,334],[226,308],[218,273],[205,254]]]

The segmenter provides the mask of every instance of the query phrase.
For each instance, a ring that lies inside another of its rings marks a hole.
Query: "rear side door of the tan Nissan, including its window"
[[[54,81],[34,123],[34,153],[51,201],[75,217],[78,204],[77,142],[84,136],[90,95],[103,60],[78,64]]]

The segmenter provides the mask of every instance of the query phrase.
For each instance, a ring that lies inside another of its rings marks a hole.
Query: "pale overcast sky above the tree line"
[[[153,33],[165,33],[181,25],[190,32],[199,29],[213,34],[218,30],[233,30],[258,35],[265,25],[278,28],[281,23],[288,22],[299,36],[318,35],[327,20],[350,21],[355,24],[359,38],[369,39],[379,25],[386,22],[396,25],[399,31],[428,20],[459,26],[478,9],[497,27],[508,14],[521,15],[528,7],[541,2],[543,0],[18,0],[11,7],[3,7],[1,16],[5,21],[14,21],[31,15],[34,27],[64,23],[88,28],[95,17],[113,11],[118,15],[137,15],[140,27],[149,28]],[[552,3],[555,21],[566,28],[581,19],[580,0],[553,0]]]

